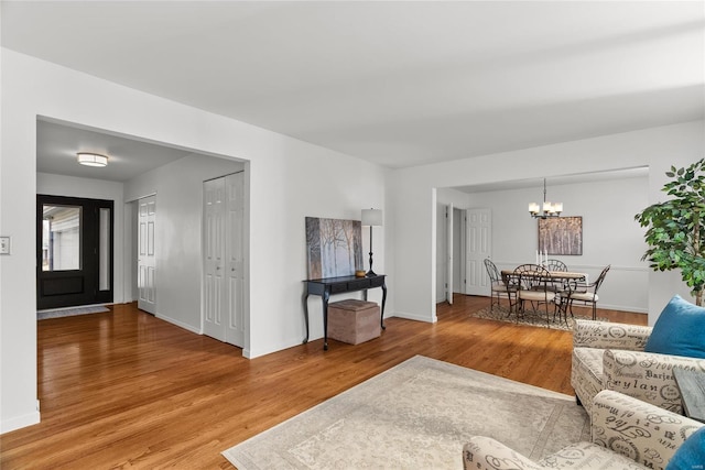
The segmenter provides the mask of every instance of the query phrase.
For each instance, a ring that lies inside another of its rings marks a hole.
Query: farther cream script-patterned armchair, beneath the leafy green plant
[[[601,390],[682,413],[673,368],[705,371],[705,359],[644,352],[651,331],[646,326],[576,320],[571,385],[588,413]]]

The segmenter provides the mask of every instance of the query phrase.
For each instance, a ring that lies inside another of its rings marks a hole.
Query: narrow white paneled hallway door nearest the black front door
[[[138,201],[138,291],[139,309],[156,314],[156,196]]]

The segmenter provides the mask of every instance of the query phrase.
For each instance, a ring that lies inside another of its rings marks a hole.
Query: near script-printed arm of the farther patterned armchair
[[[607,349],[603,354],[603,387],[682,413],[675,367],[705,370],[705,359]]]

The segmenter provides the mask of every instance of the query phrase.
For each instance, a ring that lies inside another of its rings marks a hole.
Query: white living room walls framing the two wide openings
[[[388,315],[433,321],[435,188],[649,165],[649,201],[655,201],[663,172],[705,150],[697,121],[391,172],[9,50],[1,54],[0,232],[12,237],[13,252],[0,258],[0,431],[40,418],[36,306],[29,300],[35,298],[37,117],[246,161],[251,357],[303,338],[306,216],[358,219],[361,208],[383,209],[375,270],[390,275]],[[650,321],[675,292],[687,296],[676,273],[649,273]],[[312,338],[319,338],[319,303],[310,303]]]

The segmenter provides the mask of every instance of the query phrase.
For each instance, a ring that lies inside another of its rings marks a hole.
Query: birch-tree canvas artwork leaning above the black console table
[[[362,269],[362,225],[359,220],[306,217],[308,278],[338,277]]]

